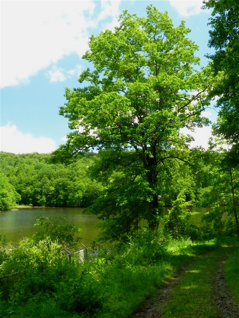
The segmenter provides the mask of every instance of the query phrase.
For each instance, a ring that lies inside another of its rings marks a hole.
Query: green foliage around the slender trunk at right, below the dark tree
[[[238,233],[239,169],[228,167],[228,152],[223,149],[207,151],[207,171],[210,178],[201,189],[199,205],[210,206],[213,211],[203,215],[203,232],[206,237],[221,233]]]

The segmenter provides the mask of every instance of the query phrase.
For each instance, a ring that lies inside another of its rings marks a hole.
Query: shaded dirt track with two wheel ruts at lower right
[[[220,255],[221,252],[221,255]],[[188,306],[188,310],[186,312],[181,312],[180,309],[176,312],[177,314],[170,314],[167,312],[167,306],[170,305],[174,301],[175,293],[177,294],[176,290],[180,290],[180,285],[182,284],[182,280],[185,279],[185,276],[189,275],[188,273],[195,271],[195,268],[197,268],[197,263],[200,262],[200,264],[203,264],[204,258],[209,259],[210,255],[211,258],[214,257],[214,252],[207,253],[206,255],[201,255],[199,257],[196,257],[194,261],[187,266],[183,267],[180,271],[176,272],[174,277],[172,277],[162,288],[159,289],[158,293],[154,295],[152,298],[148,299],[144,304],[142,304],[141,308],[137,313],[135,313],[131,318],[239,318],[239,306],[236,304],[231,297],[230,292],[227,290],[224,282],[224,275],[223,275],[223,264],[225,263],[226,259],[229,257],[230,254],[228,254],[227,251],[219,250],[217,252],[217,257],[215,261],[215,270],[213,272],[213,268],[207,268],[207,276],[208,279],[204,282],[207,287],[211,285],[209,288],[211,289],[211,294],[213,295],[211,298],[209,297],[206,289],[205,293],[201,295],[201,297],[204,298],[210,298],[209,303],[211,308],[214,310],[210,310],[210,306],[208,307],[208,315],[205,313],[205,305],[202,304],[203,312],[194,312],[190,311],[190,306]],[[205,262],[205,266],[207,263]],[[200,265],[202,268],[202,265]],[[207,277],[206,276],[206,277]],[[210,284],[210,280],[212,280],[213,276],[213,283]],[[204,277],[205,279],[205,277]],[[185,293],[185,287],[184,293]],[[186,288],[187,289],[187,288]],[[191,293],[192,298],[192,289],[188,289],[186,293]],[[190,298],[190,297],[189,297]],[[195,295],[195,299],[197,298],[197,295]],[[180,298],[178,299],[178,302],[180,302]],[[182,300],[182,302],[185,300]],[[190,301],[190,300],[189,300]],[[200,299],[199,299],[200,301]],[[172,305],[174,306],[174,305]],[[193,304],[192,304],[193,306]],[[180,308],[180,304],[178,306]],[[184,306],[184,308],[187,306]],[[166,310],[166,311],[165,311]]]

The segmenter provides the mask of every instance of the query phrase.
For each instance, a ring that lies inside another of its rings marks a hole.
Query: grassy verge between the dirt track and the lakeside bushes
[[[155,294],[172,277],[175,270],[215,247],[214,240],[197,243],[189,239],[171,240],[167,246],[171,255],[153,266],[134,266],[133,269],[130,266],[109,267],[110,272],[105,272],[105,284],[102,286],[108,290],[103,297],[103,307],[95,317],[129,317],[145,299]]]

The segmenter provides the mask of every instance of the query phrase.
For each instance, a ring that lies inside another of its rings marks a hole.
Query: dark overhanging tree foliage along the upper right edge
[[[228,156],[233,156],[235,167],[239,163],[239,2],[204,0],[204,8],[213,8],[208,46],[215,52],[207,57],[218,78],[210,93],[212,98],[219,97],[216,105],[220,107],[214,135],[232,145]]]

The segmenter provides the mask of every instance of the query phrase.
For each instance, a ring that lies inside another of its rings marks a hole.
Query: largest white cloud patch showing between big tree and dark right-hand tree
[[[184,135],[191,135],[194,138],[194,141],[190,143],[190,148],[201,146],[204,149],[207,149],[209,147],[208,139],[209,137],[212,137],[211,127],[196,127],[193,132],[187,128],[182,128],[180,132]]]

